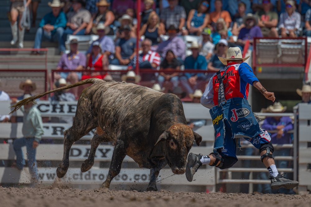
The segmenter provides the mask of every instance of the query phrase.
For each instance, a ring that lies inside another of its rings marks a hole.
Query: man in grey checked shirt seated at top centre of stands
[[[178,28],[182,35],[187,35],[188,31],[185,28],[186,12],[184,7],[178,5],[178,0],[168,0],[169,7],[163,8],[160,20],[165,25],[165,28],[171,25]]]

